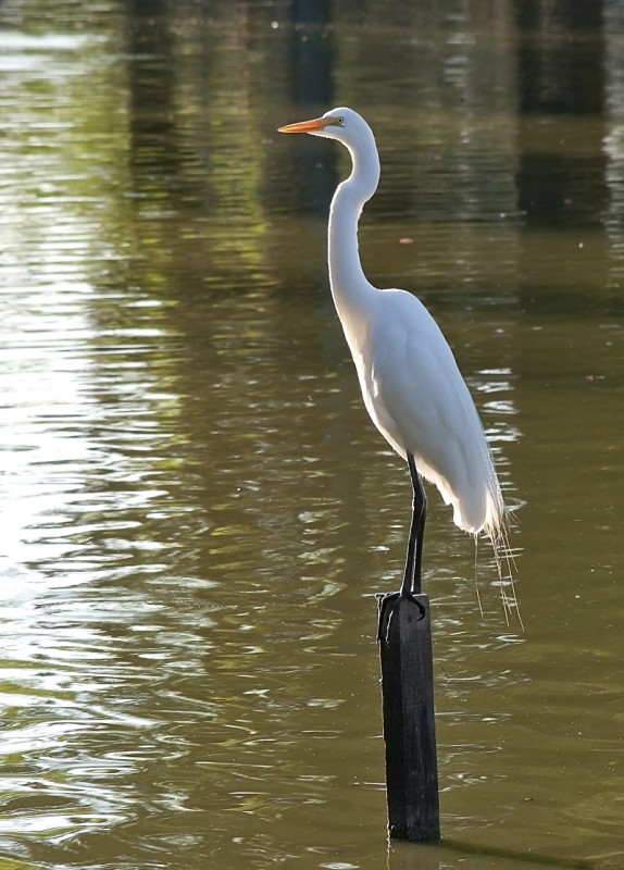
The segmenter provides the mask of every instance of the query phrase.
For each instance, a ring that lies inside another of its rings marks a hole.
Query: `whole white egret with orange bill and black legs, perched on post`
[[[362,271],[358,221],[379,182],[371,127],[357,112],[338,108],[322,117],[279,127],[279,133],[337,139],[351,154],[352,172],[336,189],[329,210],[329,283],[366,410],[407,460],[412,480],[403,582],[399,593],[387,596],[394,599],[394,609],[398,601],[414,600],[421,592],[426,519],[421,476],[452,505],[455,525],[475,538],[482,532],[489,536],[497,561],[507,540],[504,502],[476,408],[437,323],[414,295],[377,289]],[[422,618],[423,607],[415,604]]]

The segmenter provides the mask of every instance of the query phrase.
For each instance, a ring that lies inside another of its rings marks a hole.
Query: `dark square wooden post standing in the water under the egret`
[[[392,610],[397,597],[377,598],[388,832],[401,840],[439,840],[429,599],[414,596],[424,607],[421,619],[409,598]]]

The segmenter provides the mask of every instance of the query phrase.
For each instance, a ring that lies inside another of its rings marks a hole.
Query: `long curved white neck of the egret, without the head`
[[[334,195],[328,227],[329,284],[345,326],[374,289],[360,263],[358,221],[379,183],[379,158],[373,134],[357,150],[349,148],[349,151],[353,170]]]

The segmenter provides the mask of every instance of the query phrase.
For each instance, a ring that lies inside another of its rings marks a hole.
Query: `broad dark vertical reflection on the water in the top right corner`
[[[529,226],[598,222],[604,207],[602,4],[521,0],[519,95],[525,119],[517,185]],[[549,119],[584,115],[587,139],[562,138]]]

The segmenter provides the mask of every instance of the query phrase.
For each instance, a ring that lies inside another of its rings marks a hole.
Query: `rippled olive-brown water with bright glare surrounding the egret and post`
[[[622,863],[624,8],[541,5],[0,9],[8,867]],[[410,487],[328,298],[344,157],[273,134],[338,102],[382,152],[366,269],[440,320],[523,506],[525,634],[430,498],[454,848],[387,852]]]

